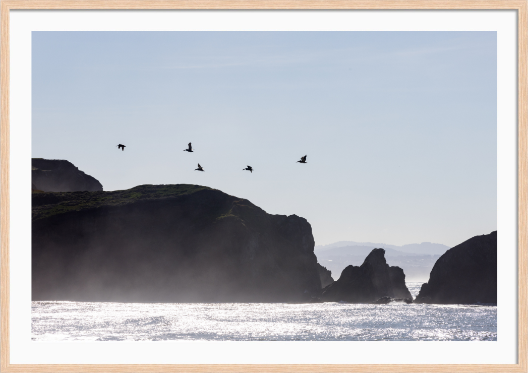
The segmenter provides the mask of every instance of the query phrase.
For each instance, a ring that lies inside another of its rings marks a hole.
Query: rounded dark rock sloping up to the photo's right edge
[[[497,231],[440,256],[414,303],[497,303]]]

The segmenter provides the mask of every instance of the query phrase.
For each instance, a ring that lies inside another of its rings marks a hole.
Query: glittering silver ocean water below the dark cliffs
[[[32,302],[32,340],[496,341],[497,306]]]

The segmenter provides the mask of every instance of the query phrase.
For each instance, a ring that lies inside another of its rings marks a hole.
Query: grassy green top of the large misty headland
[[[84,208],[119,206],[142,199],[176,197],[204,189],[215,190],[190,184],[138,185],[126,190],[114,190],[114,192],[42,192],[35,190],[32,193],[32,220]]]

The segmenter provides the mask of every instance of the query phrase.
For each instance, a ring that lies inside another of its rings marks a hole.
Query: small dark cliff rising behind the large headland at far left
[[[102,190],[99,181],[80,171],[67,160],[31,159],[31,188],[44,192],[76,192]]]

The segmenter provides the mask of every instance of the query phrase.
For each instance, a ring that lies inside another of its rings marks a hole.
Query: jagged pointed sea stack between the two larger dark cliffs
[[[372,303],[383,298],[411,298],[400,267],[390,267],[385,250],[375,248],[359,267],[347,266],[323,291],[323,302]]]

